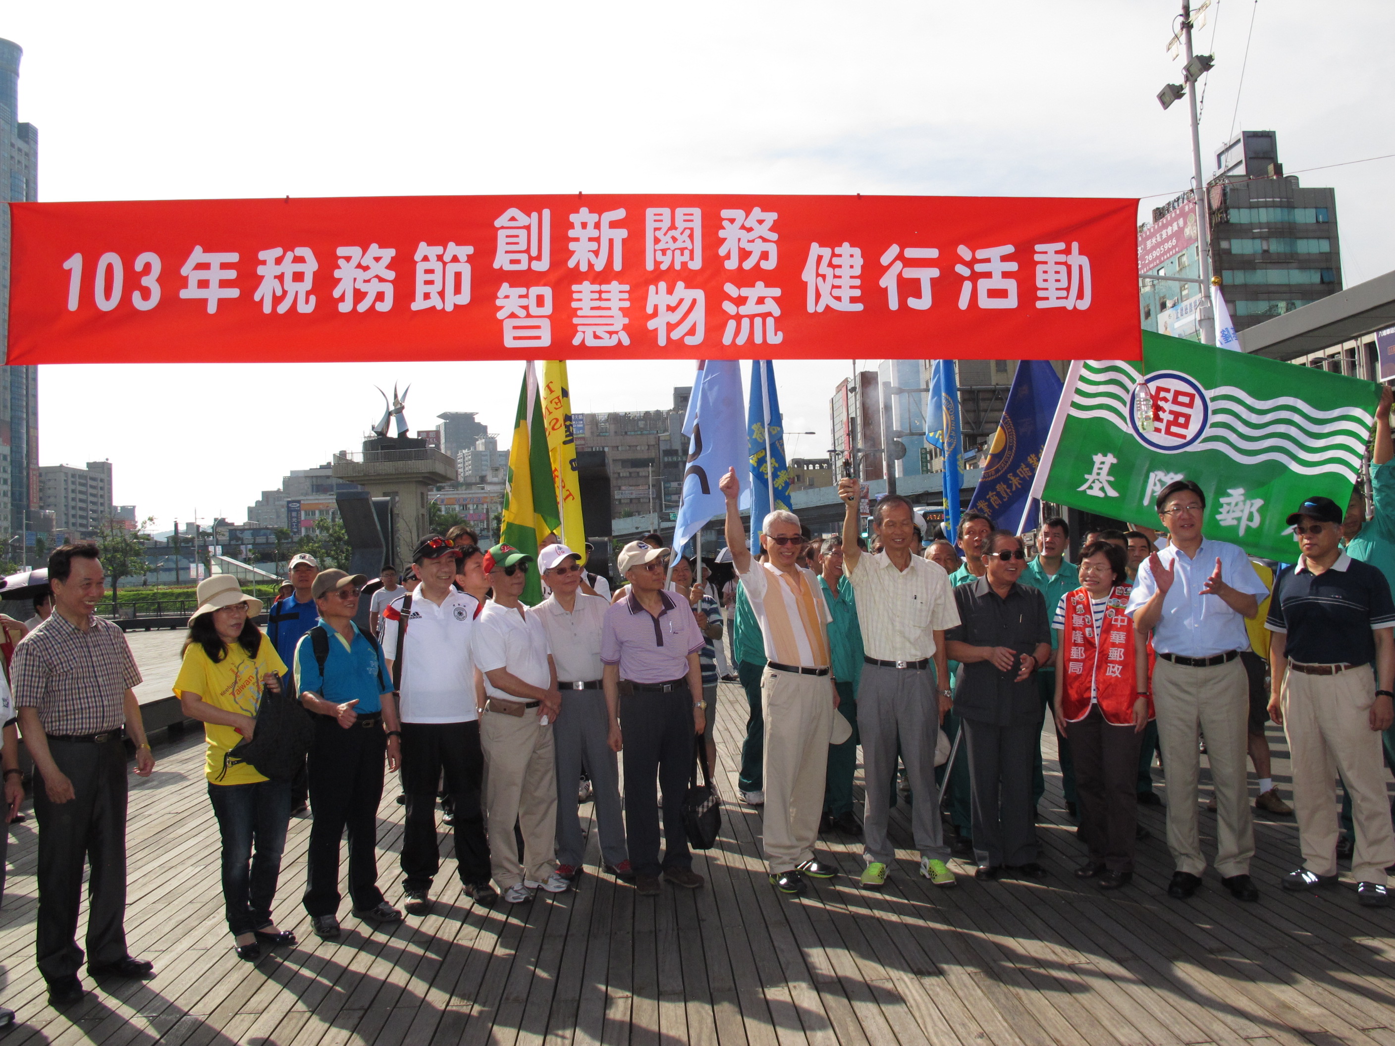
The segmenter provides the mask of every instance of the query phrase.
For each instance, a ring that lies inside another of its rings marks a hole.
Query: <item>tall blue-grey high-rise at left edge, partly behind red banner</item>
[[[0,202],[38,199],[39,132],[20,123],[22,54],[20,45],[0,40]],[[0,206],[0,353],[8,315],[10,208]],[[39,371],[0,367],[0,529],[15,536],[13,552],[18,536],[33,545],[42,530],[39,501]]]

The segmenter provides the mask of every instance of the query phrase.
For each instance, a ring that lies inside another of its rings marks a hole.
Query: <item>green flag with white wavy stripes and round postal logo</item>
[[[1158,492],[1193,480],[1205,537],[1292,562],[1285,517],[1346,505],[1378,402],[1368,381],[1144,332],[1141,363],[1071,364],[1032,492],[1151,523]]]

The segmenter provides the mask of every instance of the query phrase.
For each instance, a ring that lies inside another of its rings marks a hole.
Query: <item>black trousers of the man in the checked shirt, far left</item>
[[[56,803],[43,775],[33,775],[33,816],[39,821],[36,954],[45,980],[56,980],[82,965],[77,932],[84,861],[91,869],[88,965],[126,957],[126,742],[49,738],[49,752],[74,792],[73,799]]]

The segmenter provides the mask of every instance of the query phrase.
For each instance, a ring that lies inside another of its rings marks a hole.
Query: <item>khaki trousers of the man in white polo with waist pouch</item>
[[[557,756],[552,728],[538,725],[541,711],[480,713],[490,869],[501,891],[525,879],[547,881],[557,867]],[[522,861],[513,838],[515,821],[523,831]]]

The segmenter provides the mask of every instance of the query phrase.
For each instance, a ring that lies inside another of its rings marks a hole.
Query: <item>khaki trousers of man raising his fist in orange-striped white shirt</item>
[[[766,721],[763,847],[771,874],[813,859],[833,736],[833,681],[767,668],[760,675]]]

